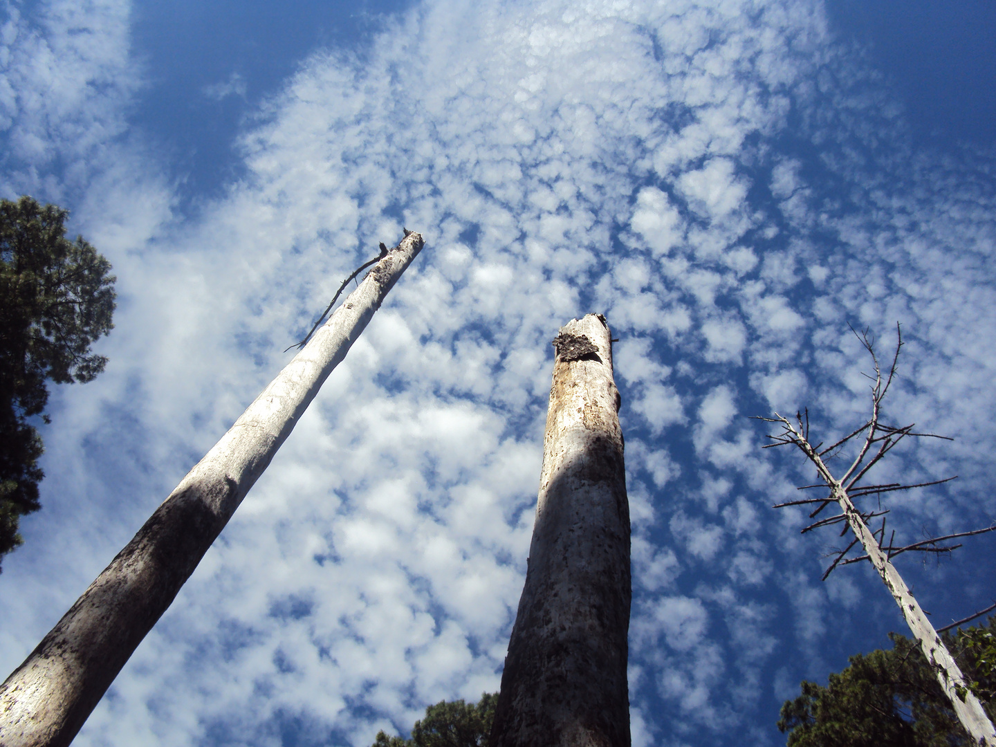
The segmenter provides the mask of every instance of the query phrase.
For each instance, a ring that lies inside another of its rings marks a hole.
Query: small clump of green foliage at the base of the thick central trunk
[[[441,700],[415,721],[411,739],[388,737],[378,731],[373,747],[484,747],[491,733],[498,693],[484,692],[476,703]]]

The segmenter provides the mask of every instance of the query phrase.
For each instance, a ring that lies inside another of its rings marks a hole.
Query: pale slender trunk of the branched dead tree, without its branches
[[[902,577],[899,576],[899,572],[895,570],[895,566],[892,565],[885,553],[882,552],[874,534],[872,534],[871,530],[865,524],[861,512],[858,511],[851,497],[848,495],[848,491],[830,473],[830,470],[816,452],[816,449],[810,446],[809,442],[805,441],[805,439],[801,438],[801,440],[803,441],[803,451],[816,465],[824,481],[831,486],[834,498],[837,500],[838,505],[840,505],[844,515],[847,516],[851,530],[861,541],[865,552],[868,553],[871,559],[871,565],[878,572],[882,582],[885,584],[885,588],[888,589],[892,595],[892,599],[895,600],[895,604],[899,606],[902,617],[905,619],[906,624],[909,625],[910,631],[919,641],[920,649],[923,651],[923,655],[926,656],[927,662],[933,667],[937,675],[937,681],[950,699],[951,706],[954,708],[955,715],[957,715],[961,725],[965,727],[965,731],[978,744],[996,747],[996,731],[993,729],[993,724],[982,708],[979,699],[968,689],[965,677],[961,673],[961,669],[954,660],[954,657],[951,656],[951,653],[947,650],[947,646],[941,641],[940,636],[934,630],[927,616],[923,614],[916,599],[910,593]]]

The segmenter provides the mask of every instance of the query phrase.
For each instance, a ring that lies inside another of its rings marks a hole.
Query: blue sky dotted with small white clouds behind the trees
[[[81,745],[365,745],[497,687],[553,349],[605,313],[633,529],[634,745],[784,741],[781,702],[901,629],[769,506],[748,415],[864,417],[848,324],[908,343],[901,534],[996,520],[991,3],[5,5],[0,184],[119,277],[111,363],[58,389],[0,577],[13,669],[401,226],[426,249]],[[992,541],[899,563],[943,624]],[[736,741],[736,740],[734,740]]]

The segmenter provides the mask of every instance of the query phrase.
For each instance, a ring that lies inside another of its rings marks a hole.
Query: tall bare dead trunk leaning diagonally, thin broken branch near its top
[[[68,745],[422,248],[408,234],[0,685],[0,745]]]

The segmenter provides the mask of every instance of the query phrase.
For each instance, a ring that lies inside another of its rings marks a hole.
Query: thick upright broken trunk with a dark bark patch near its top
[[[491,747],[628,747],[629,504],[605,318],[554,340],[526,586]]]

